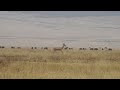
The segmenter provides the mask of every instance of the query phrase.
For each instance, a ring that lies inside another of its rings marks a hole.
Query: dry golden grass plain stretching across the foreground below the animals
[[[0,49],[1,79],[120,79],[120,51]]]

